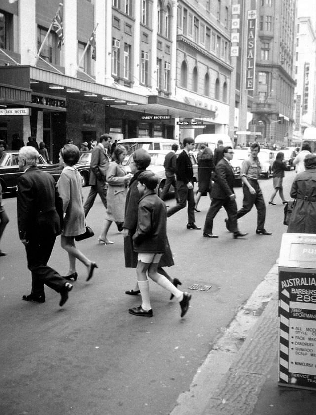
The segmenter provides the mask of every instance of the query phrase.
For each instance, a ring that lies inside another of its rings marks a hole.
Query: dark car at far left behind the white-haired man
[[[3,192],[14,193],[16,191],[17,179],[22,174],[22,171],[19,170],[18,157],[19,152],[12,150],[5,150],[0,156],[0,182]],[[58,180],[61,172],[58,169],[59,163],[49,164],[39,155],[37,166],[40,170],[50,173],[56,181]]]

